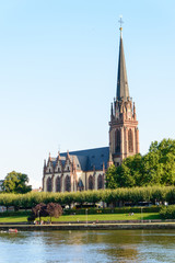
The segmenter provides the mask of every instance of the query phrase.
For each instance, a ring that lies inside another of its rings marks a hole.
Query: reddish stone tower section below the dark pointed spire
[[[136,153],[139,153],[139,129],[135,103],[115,101],[109,122],[109,151],[115,165]]]

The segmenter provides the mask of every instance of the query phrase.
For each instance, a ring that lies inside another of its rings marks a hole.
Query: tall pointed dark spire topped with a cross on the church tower
[[[127,101],[129,98],[129,88],[128,88],[128,79],[127,79],[127,70],[124,55],[124,44],[122,44],[122,27],[121,27],[121,19],[120,19],[120,43],[119,43],[119,58],[118,58],[118,77],[117,77],[117,100],[122,99]]]

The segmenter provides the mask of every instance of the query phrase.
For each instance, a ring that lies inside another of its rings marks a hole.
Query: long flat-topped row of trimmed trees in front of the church
[[[18,208],[31,208],[39,203],[57,203],[62,206],[74,203],[95,204],[105,202],[106,204],[119,205],[119,202],[175,202],[175,186],[147,186],[132,188],[116,188],[101,191],[83,191],[75,193],[27,193],[27,194],[0,194],[1,206],[14,206]]]

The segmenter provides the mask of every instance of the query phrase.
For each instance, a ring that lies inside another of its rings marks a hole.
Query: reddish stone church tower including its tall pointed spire
[[[109,162],[119,165],[129,156],[139,153],[139,129],[136,106],[129,96],[124,55],[122,27],[120,26],[117,93],[112,103],[109,122]]]

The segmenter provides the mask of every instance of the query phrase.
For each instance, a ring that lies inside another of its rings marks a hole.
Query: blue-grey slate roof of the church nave
[[[67,152],[60,153],[62,164],[66,162]],[[103,170],[103,163],[107,168],[109,147],[94,148],[88,150],[70,151],[71,161],[74,159],[77,170],[93,171]],[[54,167],[56,165],[57,158],[51,158]]]

